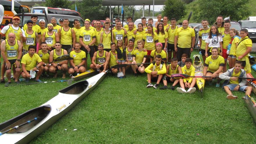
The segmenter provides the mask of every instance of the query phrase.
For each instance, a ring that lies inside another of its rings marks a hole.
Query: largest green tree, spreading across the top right
[[[202,19],[207,19],[210,24],[216,22],[216,17],[222,15],[224,18],[229,17],[231,20],[239,21],[250,15],[247,7],[248,0],[215,0],[205,1],[198,0],[193,4],[194,13],[193,19],[200,22]]]

